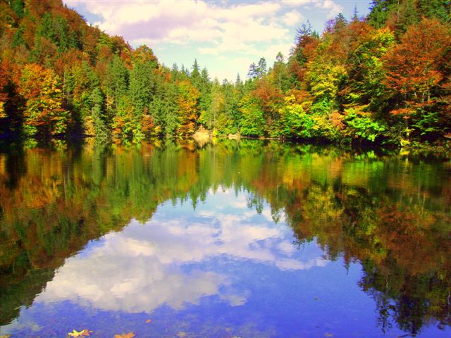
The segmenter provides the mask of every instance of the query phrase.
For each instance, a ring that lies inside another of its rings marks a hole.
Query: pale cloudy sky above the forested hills
[[[212,78],[235,80],[262,56],[272,65],[278,51],[288,56],[295,32],[307,20],[322,32],[338,13],[357,7],[366,15],[369,0],[192,1],[63,0],[89,23],[133,46],[147,44],[161,63],[191,68],[194,59]]]

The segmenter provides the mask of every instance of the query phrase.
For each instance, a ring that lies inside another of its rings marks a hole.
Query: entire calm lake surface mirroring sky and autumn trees
[[[0,336],[450,337],[450,244],[447,160],[247,140],[10,148]]]

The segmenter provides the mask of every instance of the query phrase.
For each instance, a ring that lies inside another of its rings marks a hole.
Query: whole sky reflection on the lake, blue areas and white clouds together
[[[32,306],[0,335],[64,337],[397,337],[383,335],[362,268],[298,248],[283,220],[247,207],[247,195],[209,192],[195,211],[170,202],[152,220],[90,242],[59,268]],[[147,325],[147,318],[152,323]],[[331,335],[332,334],[332,335]],[[425,328],[419,337],[448,337]]]

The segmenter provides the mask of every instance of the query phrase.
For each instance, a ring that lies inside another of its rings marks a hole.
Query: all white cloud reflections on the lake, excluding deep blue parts
[[[242,200],[244,194],[237,198]],[[240,306],[249,292],[235,289],[237,276],[206,269],[206,260],[227,256],[280,270],[326,264],[316,253],[306,261],[295,259],[286,227],[235,203],[233,194],[211,195],[199,209],[194,221],[192,211],[175,218],[172,206],[162,206],[144,226],[132,220],[123,232],[106,234],[96,246],[68,258],[37,301],[69,299],[105,310],[141,312],[163,304],[178,309],[218,295]]]

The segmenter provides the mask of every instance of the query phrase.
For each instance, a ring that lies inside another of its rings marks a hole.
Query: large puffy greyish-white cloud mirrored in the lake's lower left
[[[91,255],[69,258],[37,301],[70,299],[104,310],[141,312],[164,303],[182,308],[183,303],[218,294],[218,286],[228,284],[217,273],[183,273],[164,263],[173,259],[159,259],[157,252],[152,242],[107,234],[104,245]]]

